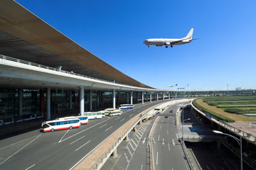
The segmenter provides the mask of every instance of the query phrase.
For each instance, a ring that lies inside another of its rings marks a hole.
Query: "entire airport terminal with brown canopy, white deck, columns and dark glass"
[[[163,92],[119,72],[16,1],[1,1],[0,16],[1,123],[163,98]]]

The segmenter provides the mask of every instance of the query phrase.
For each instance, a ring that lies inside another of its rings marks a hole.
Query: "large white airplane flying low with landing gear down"
[[[148,47],[149,45],[156,45],[157,47],[160,47],[163,45],[166,45],[166,47],[168,47],[168,45],[171,45],[171,47],[173,47],[173,45],[183,45],[198,39],[198,38],[192,39],[192,35],[193,35],[193,28],[191,28],[188,35],[186,35],[186,37],[184,38],[180,38],[180,39],[151,38],[151,39],[145,40],[143,43],[145,45],[148,45]]]

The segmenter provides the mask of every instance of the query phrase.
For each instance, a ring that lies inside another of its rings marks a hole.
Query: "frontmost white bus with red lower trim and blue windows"
[[[69,120],[50,120],[42,123],[43,132],[53,132],[55,130],[65,130],[80,127],[80,120],[73,118]]]

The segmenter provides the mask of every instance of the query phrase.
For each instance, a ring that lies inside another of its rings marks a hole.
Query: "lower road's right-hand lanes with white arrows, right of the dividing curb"
[[[170,113],[171,110],[174,113]],[[152,135],[154,169],[188,169],[178,142],[178,130],[174,123],[176,110],[176,106],[170,106],[164,113],[161,113],[154,128]]]

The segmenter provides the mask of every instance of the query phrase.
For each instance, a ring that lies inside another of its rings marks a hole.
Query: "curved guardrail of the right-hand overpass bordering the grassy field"
[[[199,108],[196,108],[196,106],[194,106],[193,103],[191,103],[191,106],[192,106],[196,111],[198,111],[198,113],[201,113],[201,114],[203,113],[203,115],[206,115],[206,113],[208,113],[208,112],[206,112],[206,111],[201,111],[201,109],[199,109]],[[210,113],[209,113],[209,114],[210,114]],[[207,117],[206,117],[206,118],[207,118]],[[214,117],[214,119],[212,118],[211,120],[213,120],[215,123],[217,123],[217,124],[223,126],[223,128],[227,128],[227,129],[229,129],[230,131],[235,132],[236,134],[241,135],[242,137],[247,138],[247,140],[250,140],[251,142],[256,142],[256,137],[255,137],[255,136],[252,136],[252,134],[250,134],[250,133],[247,133],[247,132],[244,132],[244,131],[242,131],[242,130],[240,130],[240,129],[238,129],[238,128],[235,128],[235,127],[233,127],[233,125],[229,125],[228,123],[225,123],[223,120],[218,120],[218,118],[215,118],[215,117]]]

